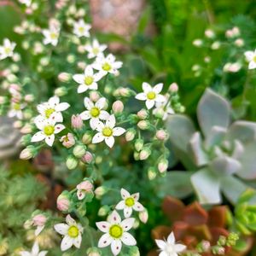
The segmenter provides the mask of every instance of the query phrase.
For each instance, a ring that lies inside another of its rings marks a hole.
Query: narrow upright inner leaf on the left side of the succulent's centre
[[[195,132],[189,140],[188,151],[191,153],[196,166],[205,166],[207,164],[208,156],[203,148],[200,132]]]

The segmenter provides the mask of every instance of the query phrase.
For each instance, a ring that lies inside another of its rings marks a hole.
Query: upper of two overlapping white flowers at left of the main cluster
[[[41,117],[44,119],[52,119],[55,123],[61,123],[63,121],[63,117],[61,111],[66,110],[69,108],[70,105],[67,102],[61,102],[58,96],[53,96],[49,98],[48,102],[44,102],[38,105],[38,112],[40,113]],[[41,118],[38,116],[38,118]],[[37,119],[35,122],[37,122]]]

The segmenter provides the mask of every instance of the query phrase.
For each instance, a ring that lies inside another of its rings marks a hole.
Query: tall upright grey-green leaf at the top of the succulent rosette
[[[213,90],[207,89],[197,107],[197,118],[205,137],[213,126],[227,128],[230,125],[230,104]]]

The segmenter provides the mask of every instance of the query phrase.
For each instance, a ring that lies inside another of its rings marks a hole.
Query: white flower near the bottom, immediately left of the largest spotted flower
[[[81,246],[83,227],[68,214],[67,224],[55,224],[55,230],[63,237],[61,241],[61,251],[66,251],[72,246],[79,248]]]

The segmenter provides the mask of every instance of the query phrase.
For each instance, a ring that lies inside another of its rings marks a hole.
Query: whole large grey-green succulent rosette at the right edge
[[[201,131],[191,119],[173,115],[167,120],[177,158],[189,171],[201,204],[218,204],[221,193],[232,203],[247,189],[245,180],[256,178],[256,123],[230,124],[230,103],[207,89],[197,108]]]

